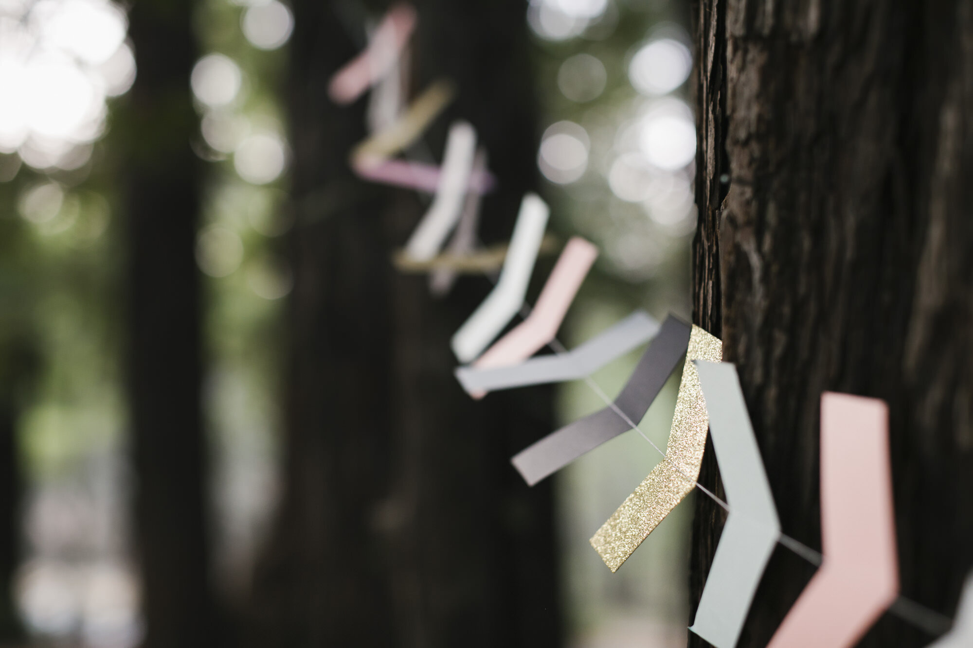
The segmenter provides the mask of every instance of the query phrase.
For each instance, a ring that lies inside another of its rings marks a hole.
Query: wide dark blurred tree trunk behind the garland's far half
[[[347,165],[364,103],[334,105],[330,75],[364,42],[350,4],[292,3],[294,158],[282,501],[254,580],[254,646],[559,645],[550,484],[509,457],[552,428],[548,388],[474,402],[452,377],[450,336],[490,284],[443,301],[390,265],[422,213],[413,195]],[[525,5],[418,3],[414,90],[458,87],[451,119],[477,127],[500,189],[482,235],[508,237],[536,151]],[[378,8],[376,8],[378,13]]]

